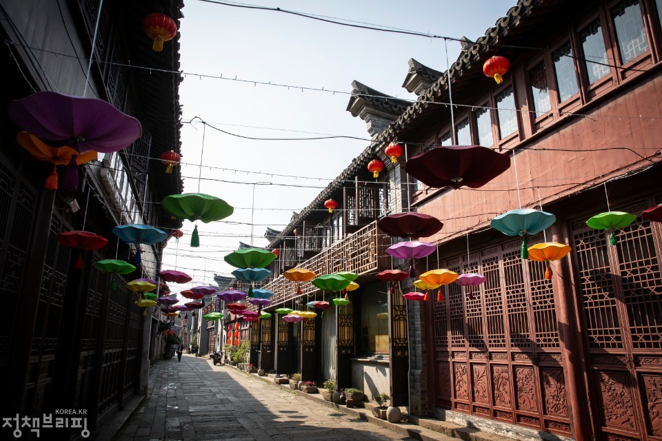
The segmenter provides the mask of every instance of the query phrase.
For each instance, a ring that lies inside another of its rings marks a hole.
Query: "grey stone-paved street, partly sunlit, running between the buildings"
[[[183,354],[150,371],[148,396],[117,441],[407,440],[376,424]]]

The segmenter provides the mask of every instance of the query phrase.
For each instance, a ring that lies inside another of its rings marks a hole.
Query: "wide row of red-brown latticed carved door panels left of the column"
[[[569,435],[552,283],[541,263],[520,258],[520,243],[441,262],[487,280],[473,298],[447,285],[445,301],[434,303],[434,398],[447,409]]]

